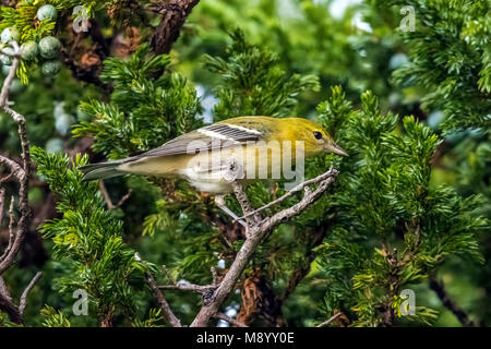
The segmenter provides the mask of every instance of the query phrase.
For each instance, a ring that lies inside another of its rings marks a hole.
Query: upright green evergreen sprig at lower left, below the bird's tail
[[[139,270],[143,272],[144,265],[123,242],[121,221],[104,207],[97,185],[82,180],[77,168],[87,164],[87,156],[70,160],[39,147],[33,147],[32,155],[38,173],[58,196],[57,210],[62,214],[41,227],[45,238],[53,242],[55,257],[70,270],[57,279],[58,291],[85,290],[99,320],[112,317],[116,311],[134,317],[134,291],[129,280],[141,277]]]

